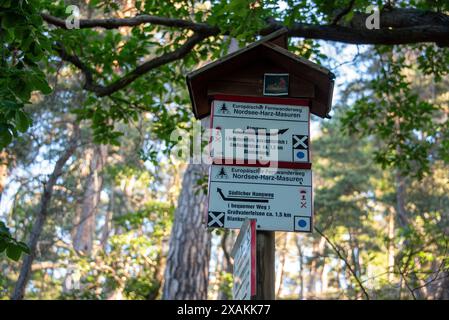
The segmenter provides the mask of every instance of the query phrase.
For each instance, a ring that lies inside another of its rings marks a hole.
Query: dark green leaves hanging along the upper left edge
[[[39,1],[0,1],[0,149],[32,125],[24,112],[33,91],[51,92],[38,63],[50,50]]]

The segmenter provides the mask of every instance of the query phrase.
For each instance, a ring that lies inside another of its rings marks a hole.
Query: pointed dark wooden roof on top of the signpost
[[[313,63],[307,59],[299,57],[287,50],[287,29],[279,29],[250,45],[230,53],[214,62],[211,62],[186,76],[190,99],[192,101],[193,113],[197,119],[202,119],[210,114],[210,100],[213,98],[215,87],[212,90],[213,82],[223,78],[223,81],[232,77],[246,77],[245,68],[249,65],[259,63],[258,68],[263,71],[265,68],[275,67],[285,70],[291,77],[290,86],[307,87],[309,90],[296,90],[297,98],[308,98],[311,100],[311,112],[322,118],[329,118],[332,105],[332,94],[334,87],[334,74],[328,69]],[[276,70],[278,70],[276,69]],[[262,72],[261,71],[261,72]],[[269,72],[268,69],[265,72]],[[225,75],[228,77],[225,79]],[[263,86],[261,84],[262,75],[253,75],[252,86]],[[296,79],[296,80],[295,80]],[[227,90],[232,91],[230,83]],[[248,84],[247,84],[248,85]],[[236,87],[236,95],[260,96],[260,90],[239,90]],[[229,88],[230,87],[230,88]],[[254,89],[254,88],[253,88]],[[242,93],[243,91],[243,93]],[[294,94],[294,93],[293,93]],[[292,96],[286,96],[291,98]]]

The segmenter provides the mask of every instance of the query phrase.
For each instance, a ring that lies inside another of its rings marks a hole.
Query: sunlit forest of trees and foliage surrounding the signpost
[[[276,233],[276,297],[449,299],[448,12],[0,0],[0,299],[230,298],[236,232],[205,229],[207,170],[170,134],[196,123],[185,74],[282,26],[336,88],[316,230]]]

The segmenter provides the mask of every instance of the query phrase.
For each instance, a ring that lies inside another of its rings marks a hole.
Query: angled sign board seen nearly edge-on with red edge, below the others
[[[232,298],[251,300],[256,295],[256,221],[245,220],[232,249]]]

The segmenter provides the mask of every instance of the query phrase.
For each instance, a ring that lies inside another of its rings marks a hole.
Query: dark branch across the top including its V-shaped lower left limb
[[[369,30],[366,28],[365,21],[369,15],[361,12],[355,12],[350,22],[339,24],[338,22],[344,15],[351,11],[353,5],[354,1],[351,0],[348,7],[337,14],[330,25],[294,23],[288,28],[288,36],[349,44],[398,45],[435,42],[442,47],[449,46],[448,15],[418,9],[387,8],[380,14],[381,28],[378,30]],[[41,15],[47,23],[67,29],[65,20],[46,13],[42,13]],[[117,81],[106,86],[96,83],[93,77],[94,71],[76,55],[69,54],[62,44],[57,44],[55,50],[63,60],[70,62],[81,70],[85,77],[85,90],[94,92],[99,97],[103,97],[125,88],[150,70],[182,59],[196,44],[204,39],[210,36],[227,34],[227,32],[221,32],[219,27],[206,23],[196,23],[190,20],[151,15],[138,15],[131,18],[80,19],[80,28],[114,29],[119,27],[134,27],[141,24],[154,24],[193,30],[194,35],[178,49],[143,63]],[[266,26],[259,30],[257,34],[266,35],[282,27],[284,27],[282,21],[268,19]]]

